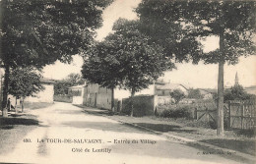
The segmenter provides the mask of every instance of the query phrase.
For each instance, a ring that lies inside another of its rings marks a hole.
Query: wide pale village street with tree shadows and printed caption
[[[12,163],[236,163],[174,140],[87,114],[69,103],[30,112],[40,125],[0,162]],[[31,141],[31,142],[30,142]]]

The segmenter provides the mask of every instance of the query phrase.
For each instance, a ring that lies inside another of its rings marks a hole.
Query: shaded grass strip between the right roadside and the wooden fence
[[[160,133],[196,139],[223,148],[255,155],[255,132],[252,130],[228,130],[224,132],[224,137],[217,137],[217,132],[211,129],[211,125],[196,120],[159,118],[155,116],[129,117],[114,115],[107,117],[137,124]]]

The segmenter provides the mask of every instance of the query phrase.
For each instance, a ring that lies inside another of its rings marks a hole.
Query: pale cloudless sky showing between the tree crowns
[[[103,11],[103,26],[97,29],[96,40],[101,40],[112,30],[112,25],[119,18],[128,20],[138,19],[134,8],[141,0],[115,0]],[[219,38],[209,37],[205,42],[205,51],[219,48]],[[71,73],[81,73],[83,60],[80,56],[74,56],[70,65],[57,61],[54,65],[46,66],[43,69],[44,78],[61,80]],[[203,62],[198,65],[191,63],[176,64],[177,69],[166,72],[162,79],[165,82],[182,83],[194,88],[217,88],[218,65]],[[243,86],[256,85],[256,56],[239,58],[239,63],[235,66],[224,65],[224,85],[230,86],[234,83],[235,74],[238,74],[239,83]]]

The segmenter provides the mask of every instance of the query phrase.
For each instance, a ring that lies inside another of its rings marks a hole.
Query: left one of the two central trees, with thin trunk
[[[105,39],[97,42],[94,53],[85,60],[82,74],[88,82],[111,89],[111,109],[114,110],[114,88],[122,82],[122,66],[114,56],[115,45]]]

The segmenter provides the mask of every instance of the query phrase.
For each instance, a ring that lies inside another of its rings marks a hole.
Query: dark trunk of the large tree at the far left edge
[[[10,76],[10,67],[8,64],[5,64],[5,77],[4,77],[3,101],[2,101],[2,109],[3,109],[2,116],[3,117],[8,117],[7,98],[8,98],[9,76]]]

